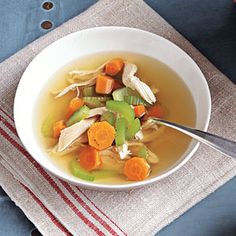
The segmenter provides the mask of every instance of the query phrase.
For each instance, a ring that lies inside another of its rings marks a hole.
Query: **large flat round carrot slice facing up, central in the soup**
[[[94,123],[87,134],[89,145],[98,150],[110,147],[115,139],[115,129],[107,121]]]

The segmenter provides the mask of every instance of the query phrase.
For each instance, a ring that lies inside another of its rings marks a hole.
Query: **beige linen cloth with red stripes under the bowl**
[[[151,235],[236,175],[235,160],[202,145],[171,176],[126,192],[72,186],[34,161],[17,137],[12,118],[23,71],[56,39],[103,25],[147,30],[186,51],[203,71],[211,90],[209,131],[236,139],[235,85],[143,1],[101,0],[0,64],[0,184],[44,235]]]

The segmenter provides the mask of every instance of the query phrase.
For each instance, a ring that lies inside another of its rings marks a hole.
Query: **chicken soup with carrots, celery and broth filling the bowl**
[[[107,184],[142,181],[176,163],[191,139],[153,117],[195,125],[181,78],[153,58],[128,52],[88,55],[57,71],[41,91],[39,142],[58,168]]]

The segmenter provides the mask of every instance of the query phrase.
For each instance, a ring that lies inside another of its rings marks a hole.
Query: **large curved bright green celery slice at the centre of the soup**
[[[128,125],[132,124],[135,115],[134,110],[128,103],[110,100],[106,102],[106,108],[123,116],[127,120]]]

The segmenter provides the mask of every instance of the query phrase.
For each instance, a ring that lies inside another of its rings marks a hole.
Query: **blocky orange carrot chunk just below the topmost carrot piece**
[[[96,93],[109,94],[112,92],[115,80],[110,76],[98,75],[96,79]]]

